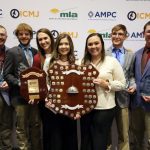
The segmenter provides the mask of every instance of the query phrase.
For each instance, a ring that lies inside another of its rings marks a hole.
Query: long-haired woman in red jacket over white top
[[[51,53],[54,49],[54,38],[46,28],[37,31],[36,42],[39,52],[34,56],[33,66],[43,69],[46,73],[49,68]],[[40,101],[40,111],[43,124],[43,149],[50,150],[49,135],[51,134],[51,112],[45,107],[45,102]]]

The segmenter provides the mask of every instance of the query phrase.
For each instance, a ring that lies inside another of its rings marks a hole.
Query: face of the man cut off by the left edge
[[[2,48],[7,39],[7,32],[4,28],[0,27],[0,48]]]

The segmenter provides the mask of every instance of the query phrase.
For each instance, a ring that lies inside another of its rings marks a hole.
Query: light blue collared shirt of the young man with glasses
[[[117,59],[119,61],[119,63],[121,64],[121,66],[123,66],[124,64],[124,55],[125,55],[125,50],[123,47],[117,49],[115,47],[112,46],[112,56],[116,58],[116,51],[119,51],[117,54]]]

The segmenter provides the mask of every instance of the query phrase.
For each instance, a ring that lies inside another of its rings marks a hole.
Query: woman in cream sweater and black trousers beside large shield
[[[99,76],[93,80],[98,95],[97,106],[81,118],[81,149],[106,150],[115,114],[115,91],[125,88],[124,73],[115,58],[105,56],[104,41],[99,33],[87,37],[82,62],[85,65],[93,64]],[[92,146],[87,147],[90,141]]]

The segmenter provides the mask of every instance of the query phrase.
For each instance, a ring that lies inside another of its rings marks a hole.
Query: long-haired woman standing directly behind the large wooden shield
[[[55,43],[49,68],[55,63],[63,66],[75,63],[74,46],[68,34],[60,34]],[[47,102],[47,107],[51,108],[51,102]],[[51,112],[50,148],[47,150],[77,150],[77,130],[76,121],[62,114]]]

